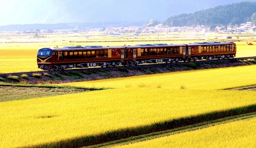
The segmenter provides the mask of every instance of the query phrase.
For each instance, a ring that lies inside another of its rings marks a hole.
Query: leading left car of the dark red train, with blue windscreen
[[[41,48],[37,65],[42,70],[62,70],[91,66],[115,66],[124,63],[124,47],[66,46]]]

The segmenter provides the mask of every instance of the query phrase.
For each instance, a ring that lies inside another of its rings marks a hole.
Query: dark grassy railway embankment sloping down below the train
[[[110,68],[86,68],[62,71],[33,71],[0,74],[0,81],[12,84],[58,84],[107,78],[130,77],[146,74],[185,70],[212,69],[256,64],[256,57],[202,60],[196,62],[143,64]]]

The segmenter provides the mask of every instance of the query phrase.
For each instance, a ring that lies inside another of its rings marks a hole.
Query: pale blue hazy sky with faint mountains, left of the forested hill
[[[10,24],[164,21],[243,0],[1,0],[0,26]],[[255,0],[247,0],[255,1]]]

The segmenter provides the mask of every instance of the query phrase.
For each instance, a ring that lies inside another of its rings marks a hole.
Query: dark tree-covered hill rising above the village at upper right
[[[251,21],[252,14],[256,12],[256,2],[240,2],[235,4],[220,5],[214,8],[196,11],[195,13],[180,14],[164,21],[169,26],[193,25],[235,25]]]

